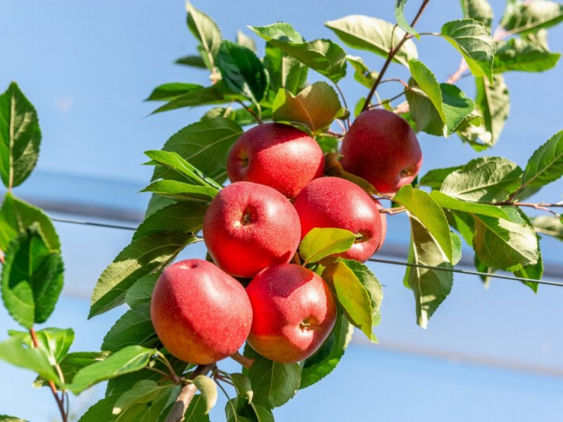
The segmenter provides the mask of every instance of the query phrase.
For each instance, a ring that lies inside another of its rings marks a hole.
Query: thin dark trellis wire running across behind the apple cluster
[[[83,226],[105,227],[106,229],[120,229],[120,230],[129,230],[129,231],[137,230],[137,227],[121,226],[119,224],[105,224],[105,223],[87,222],[87,221],[76,220],[76,219],[65,219],[65,218],[56,218],[56,217],[51,217],[51,219],[53,220],[53,222],[59,222],[59,223],[80,224],[80,225],[83,225]],[[466,269],[433,267],[431,265],[412,264],[410,262],[403,262],[403,261],[382,260],[381,258],[369,258],[368,261],[379,262],[381,264],[400,265],[402,267],[435,269],[437,271],[445,271],[445,272],[451,272],[451,273],[457,273],[457,274],[465,274],[465,275],[470,275],[470,276],[485,276],[485,277],[491,277],[491,279],[524,281],[524,282],[527,282],[527,283],[544,284],[546,286],[563,287],[563,283],[557,283],[557,281],[550,281],[550,280],[524,279],[524,277],[505,276],[503,274],[490,274],[490,273],[481,272],[481,271],[469,271],[469,270],[466,270]]]

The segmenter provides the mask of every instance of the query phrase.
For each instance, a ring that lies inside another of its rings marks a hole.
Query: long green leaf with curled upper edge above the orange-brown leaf
[[[278,47],[284,53],[296,58],[312,70],[338,82],[346,76],[346,53],[339,44],[329,39],[315,39],[309,42],[292,42],[296,30],[289,23],[274,23],[263,27],[249,27],[256,34]],[[290,37],[286,34],[289,33]]]

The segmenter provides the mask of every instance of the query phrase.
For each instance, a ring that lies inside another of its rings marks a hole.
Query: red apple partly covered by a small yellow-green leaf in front
[[[357,184],[339,177],[315,179],[299,193],[293,206],[301,220],[303,239],[315,227],[346,229],[362,235],[339,254],[365,262],[381,243],[381,215],[375,201]]]

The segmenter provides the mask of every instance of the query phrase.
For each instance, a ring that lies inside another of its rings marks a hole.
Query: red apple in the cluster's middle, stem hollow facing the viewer
[[[203,218],[203,239],[215,263],[236,277],[289,262],[298,248],[299,216],[278,191],[236,181],[213,198]]]

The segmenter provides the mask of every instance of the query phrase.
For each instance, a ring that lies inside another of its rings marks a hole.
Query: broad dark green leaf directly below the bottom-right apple
[[[254,390],[253,403],[273,409],[296,395],[301,380],[299,364],[281,364],[257,357],[248,373]]]

